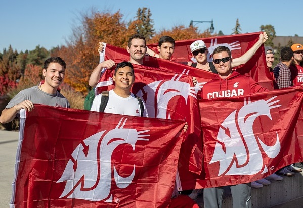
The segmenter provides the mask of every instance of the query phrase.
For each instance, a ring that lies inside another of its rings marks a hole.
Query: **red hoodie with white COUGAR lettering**
[[[217,75],[217,77],[207,82],[202,88],[201,98],[234,97],[263,91],[269,90],[259,85],[251,77],[233,71],[232,74],[225,79]]]

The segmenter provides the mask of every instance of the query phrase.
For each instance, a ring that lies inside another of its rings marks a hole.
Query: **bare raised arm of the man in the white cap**
[[[261,47],[261,45],[268,39],[266,32],[263,34],[261,33],[259,36],[259,40],[249,49],[246,51],[245,54],[243,54],[239,58],[235,58],[232,63],[232,67],[240,66],[241,64],[245,64],[248,62],[248,60],[251,59],[251,57],[256,53],[256,51]]]

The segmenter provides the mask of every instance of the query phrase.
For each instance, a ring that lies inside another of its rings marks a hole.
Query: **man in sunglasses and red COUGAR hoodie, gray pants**
[[[228,47],[219,46],[212,53],[217,77],[207,82],[201,91],[202,99],[249,95],[269,91],[251,77],[241,75],[232,69],[233,58]],[[223,187],[204,189],[204,207],[222,207]],[[231,186],[233,207],[251,207],[250,183]]]

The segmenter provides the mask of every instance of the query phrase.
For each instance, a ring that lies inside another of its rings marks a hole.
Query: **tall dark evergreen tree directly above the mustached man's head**
[[[136,20],[134,22],[136,32],[143,34],[147,41],[150,40],[154,34],[154,25],[151,15],[150,9],[147,9],[146,7],[143,7],[142,9],[139,8],[137,11]]]

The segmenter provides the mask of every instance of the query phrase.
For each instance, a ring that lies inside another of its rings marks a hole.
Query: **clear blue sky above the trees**
[[[294,1],[296,2],[296,1]],[[299,2],[299,1],[298,1]],[[12,45],[17,51],[32,50],[37,45],[51,49],[65,45],[81,13],[92,8],[112,13],[120,10],[123,19],[136,16],[138,8],[151,10],[154,28],[188,26],[190,21],[211,21],[215,32],[225,35],[239,23],[242,33],[258,32],[261,25],[274,26],[277,36],[303,36],[302,14],[294,12],[295,3],[285,1],[137,1],[137,0],[2,0],[0,7],[0,52]],[[298,6],[300,7],[300,6]],[[210,23],[198,23],[201,31]]]

